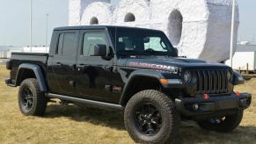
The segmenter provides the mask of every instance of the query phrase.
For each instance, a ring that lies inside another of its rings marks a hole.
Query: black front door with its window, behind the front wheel
[[[82,31],[77,56],[77,94],[92,100],[113,102],[111,77],[113,59],[104,60],[97,47],[109,49],[106,31]]]

